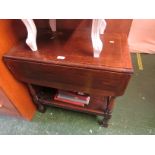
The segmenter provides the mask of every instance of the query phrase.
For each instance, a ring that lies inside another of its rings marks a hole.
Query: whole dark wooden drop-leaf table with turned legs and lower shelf
[[[133,73],[127,36],[105,33],[101,55],[94,58],[89,33],[67,31],[54,40],[43,36],[38,39],[38,52],[23,41],[3,58],[15,78],[28,85],[39,111],[51,105],[102,115],[100,123],[107,127],[115,98],[124,94]],[[87,93],[90,103],[80,107],[54,101],[57,89]]]

